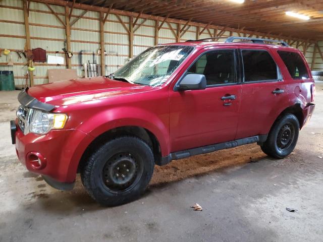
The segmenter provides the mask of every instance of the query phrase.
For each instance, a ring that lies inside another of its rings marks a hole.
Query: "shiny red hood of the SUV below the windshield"
[[[151,90],[152,87],[121,82],[105,77],[79,78],[35,86],[28,94],[55,106],[108,98]]]

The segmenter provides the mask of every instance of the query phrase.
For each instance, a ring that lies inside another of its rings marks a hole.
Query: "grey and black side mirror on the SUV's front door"
[[[187,74],[180,82],[177,90],[203,90],[206,88],[206,78],[202,74]]]

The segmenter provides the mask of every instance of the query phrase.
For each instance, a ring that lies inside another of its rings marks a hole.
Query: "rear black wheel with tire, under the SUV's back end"
[[[294,150],[299,134],[299,122],[294,114],[287,113],[273,125],[261,150],[274,158],[284,158]]]

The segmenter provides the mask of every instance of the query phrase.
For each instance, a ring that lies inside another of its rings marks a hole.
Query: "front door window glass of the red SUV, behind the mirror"
[[[235,83],[234,49],[206,52],[189,68],[187,74],[192,73],[203,74],[207,86]]]

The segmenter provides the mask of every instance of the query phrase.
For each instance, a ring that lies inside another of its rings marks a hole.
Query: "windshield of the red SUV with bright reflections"
[[[161,45],[148,48],[113,74],[115,80],[160,86],[194,48],[184,45]]]

